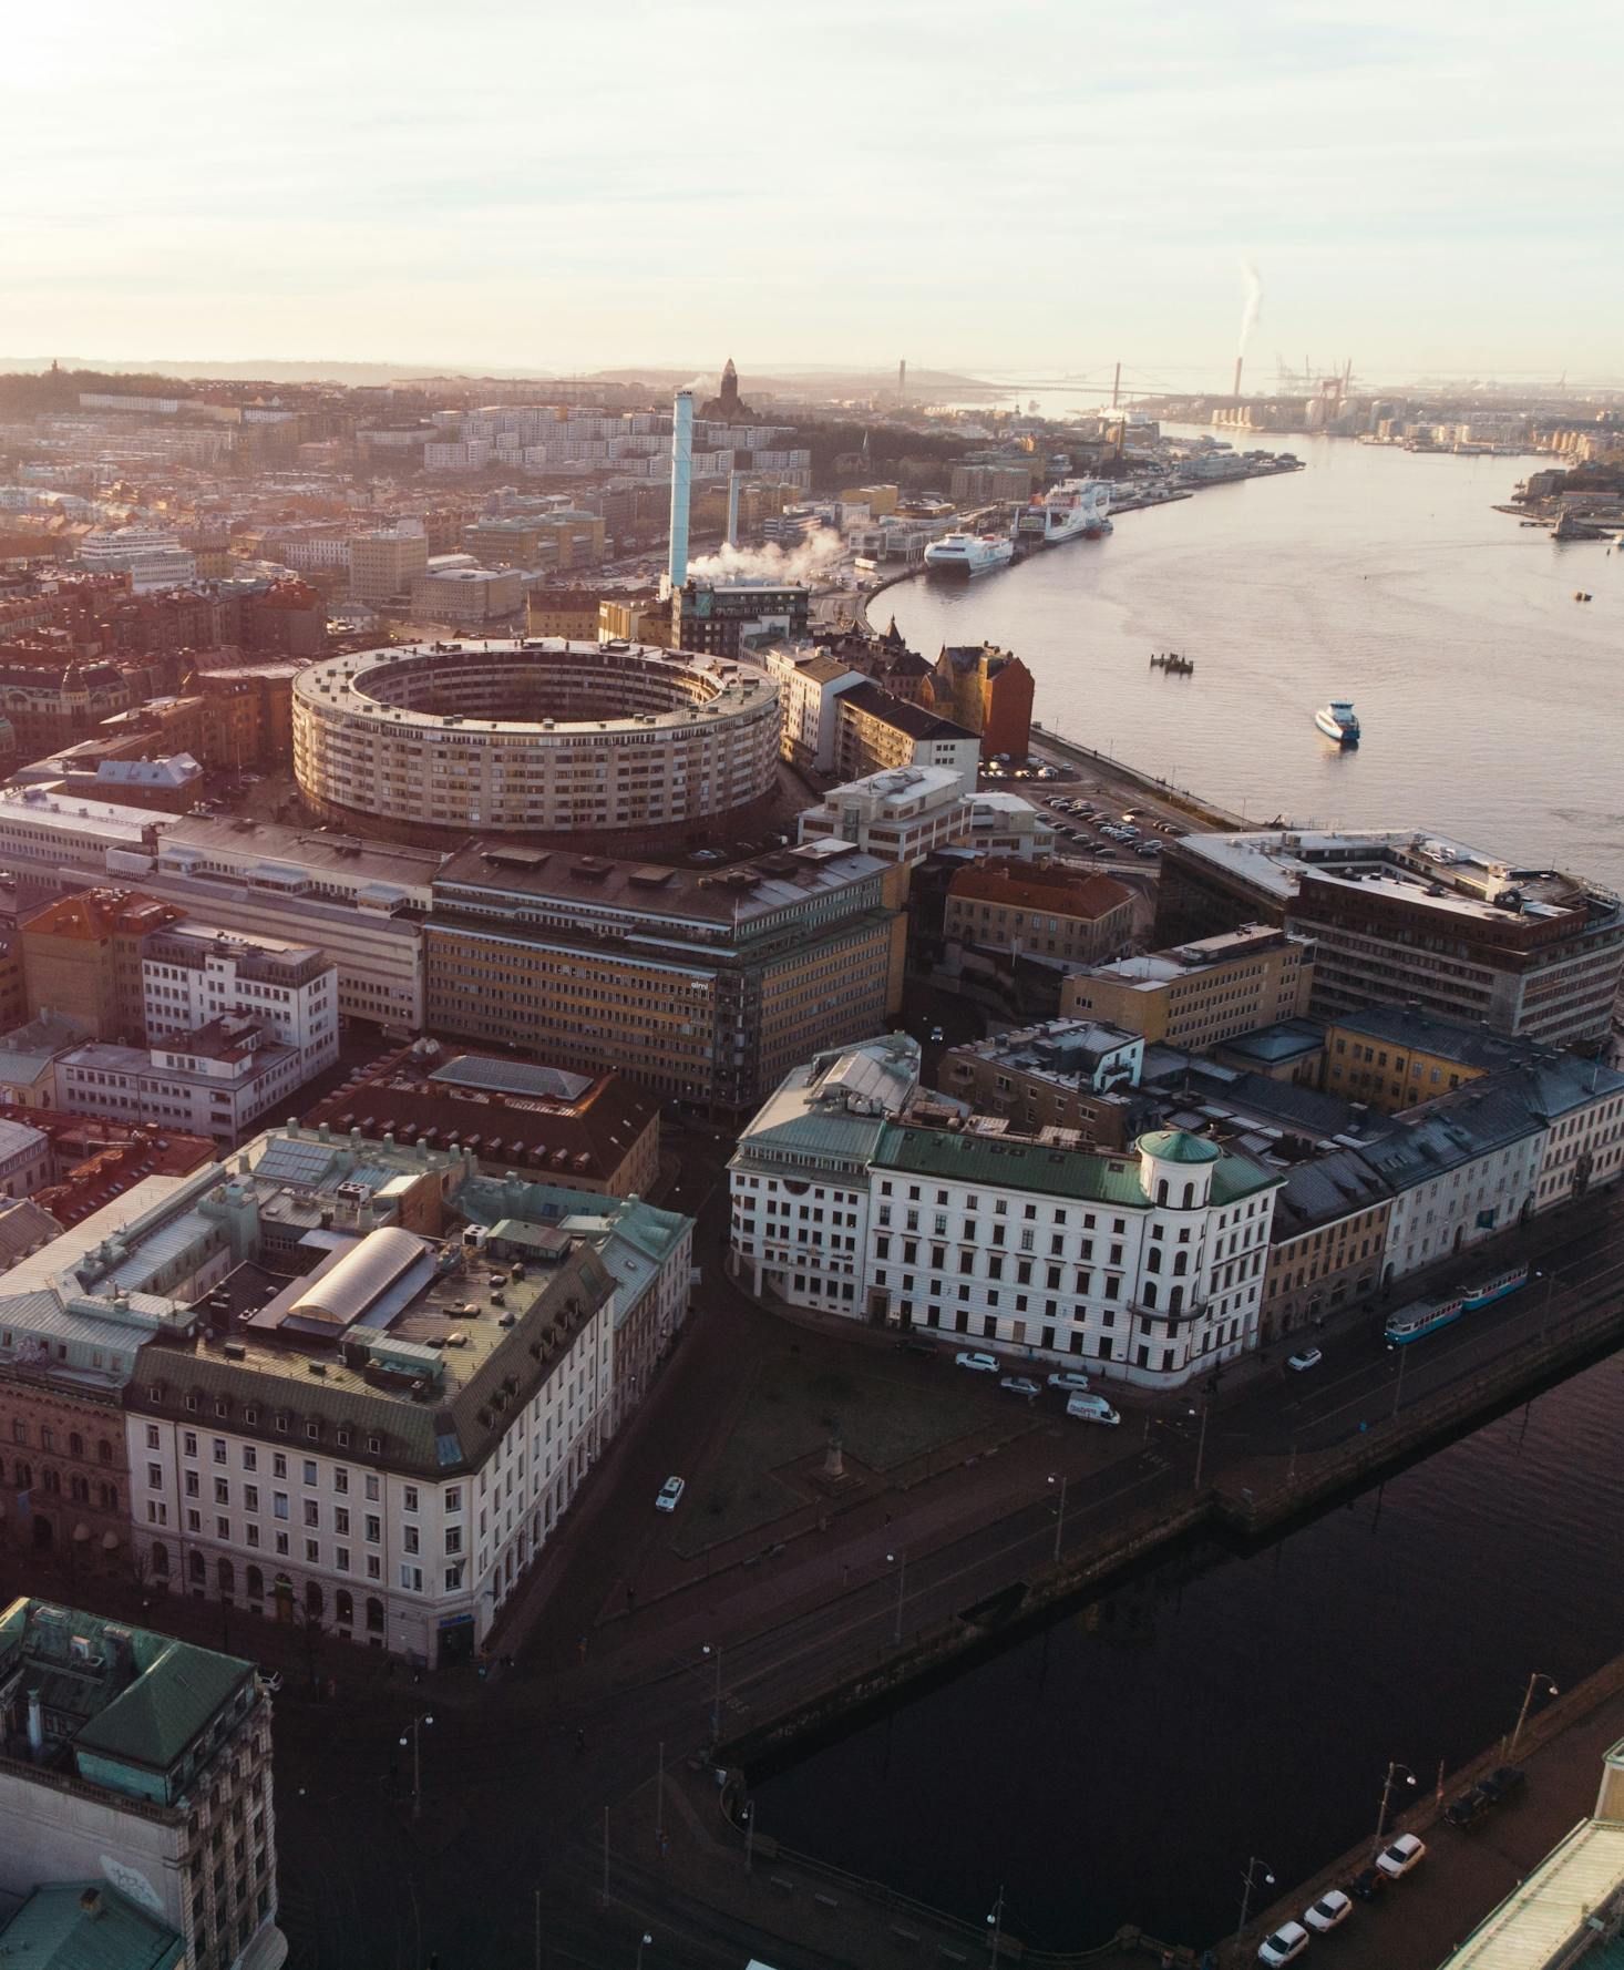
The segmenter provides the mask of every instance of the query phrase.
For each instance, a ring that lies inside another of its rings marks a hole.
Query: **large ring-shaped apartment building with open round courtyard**
[[[293,680],[293,772],[398,841],[685,847],[766,818],[780,703],[750,664],[628,642],[419,642]]]

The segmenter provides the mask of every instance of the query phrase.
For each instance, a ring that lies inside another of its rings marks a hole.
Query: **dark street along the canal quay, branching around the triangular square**
[[[689,1145],[683,1182],[701,1208],[718,1196],[724,1147],[715,1139],[707,1147],[705,1135]],[[1274,1363],[1193,1401],[1148,1405],[1124,1395],[1118,1430],[1069,1424],[1059,1399],[1045,1397],[1008,1456],[888,1493],[884,1517],[876,1499],[827,1535],[789,1541],[774,1562],[709,1580],[695,1562],[656,1604],[622,1613],[616,1598],[628,1572],[636,1578],[636,1556],[650,1550],[654,1491],[671,1470],[701,1470],[726,1389],[768,1320],[718,1277],[720,1214],[703,1210],[705,1312],[616,1450],[608,1481],[593,1487],[559,1556],[526,1596],[514,1627],[524,1639],[512,1643],[518,1667],[482,1684],[427,1678],[423,1700],[439,1706],[423,1753],[427,1840],[421,1830],[413,1836],[390,1795],[390,1767],[396,1789],[404,1783],[396,1740],[413,1692],[374,1684],[339,1716],[283,1700],[283,1866],[289,1881],[303,1881],[289,1911],[297,1962],[400,1970],[427,1960],[425,1950],[437,1950],[445,1970],[530,1962],[539,1891],[541,1960],[551,1964],[602,1962],[606,1935],[634,1946],[644,1923],[657,1933],[650,1966],[738,1964],[768,1944],[772,1960],[791,1970],[862,1964],[860,1948],[846,1956],[787,1948],[752,1929],[748,1909],[722,1913],[689,1893],[687,1877],[667,1877],[630,1832],[648,1820],[659,1763],[667,1773],[703,1763],[717,1728],[734,1736],[793,1702],[807,1682],[878,1665],[898,1633],[953,1615],[1102,1527],[1165,1513],[1193,1495],[1197,1478],[1270,1464],[1278,1472],[1293,1452],[1346,1442],[1360,1424],[1374,1428],[1396,1407],[1476,1373],[1547,1312],[1624,1282],[1616,1217],[1612,1200],[1593,1200],[1533,1227],[1539,1280],[1402,1353],[1384,1346],[1366,1312],[1321,1338],[1325,1359],[1307,1375]],[[803,1344],[831,1359],[862,1355],[866,1371],[884,1361],[894,1373],[953,1375],[900,1357],[870,1334],[807,1332]],[[955,1395],[968,1383],[955,1379]],[[970,1393],[988,1416],[1008,1414],[1010,1399],[996,1389]],[[1065,1479],[1063,1519],[1051,1479]],[[614,1881],[606,1913],[604,1810]],[[366,1836],[335,1840],[343,1824],[362,1824]]]

